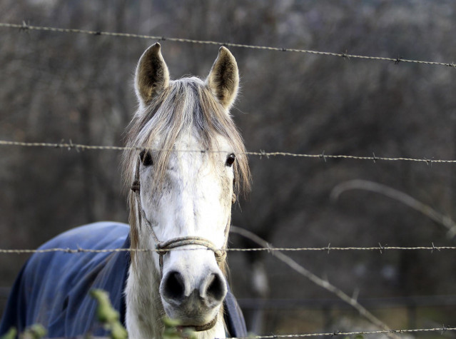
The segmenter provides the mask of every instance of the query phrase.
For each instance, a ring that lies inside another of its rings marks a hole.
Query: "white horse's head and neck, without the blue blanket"
[[[222,47],[206,81],[170,81],[160,49],[155,44],[145,51],[136,69],[139,108],[128,146],[144,149],[124,159],[126,183],[141,187],[129,198],[131,247],[190,237],[181,249],[193,251],[165,252],[161,260],[157,253],[133,256],[126,325],[132,338],[158,338],[164,310],[182,325],[201,328],[199,338],[223,338],[225,257],[207,247],[226,248],[235,176],[238,183],[248,178],[243,142],[228,113],[238,67]]]

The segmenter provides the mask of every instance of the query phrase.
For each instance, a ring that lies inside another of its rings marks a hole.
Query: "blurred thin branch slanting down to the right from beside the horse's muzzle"
[[[271,246],[267,241],[260,238],[255,233],[245,230],[244,228],[231,226],[230,232],[236,233],[240,236],[243,236],[244,238],[248,238],[250,241],[253,241],[254,243],[256,243],[257,245],[259,245],[261,247],[273,248],[273,246]],[[370,323],[373,323],[375,326],[378,326],[378,328],[381,328],[382,330],[390,331],[390,328],[388,327],[388,325],[383,323],[382,320],[375,317],[375,315],[370,313],[363,305],[358,303],[358,300],[356,300],[356,298],[348,296],[342,290],[340,290],[340,288],[337,288],[337,287],[335,287],[335,285],[332,285],[331,283],[329,283],[328,280],[323,280],[322,278],[318,277],[314,273],[310,272],[310,270],[308,270],[307,268],[304,268],[304,266],[298,264],[295,260],[290,258],[288,255],[285,255],[280,251],[273,251],[270,253],[272,255],[274,255],[275,258],[278,258],[278,260],[282,261],[283,263],[288,265],[290,268],[292,268],[296,272],[305,276],[305,278],[308,278],[310,281],[312,281],[316,285],[319,285],[320,287],[324,288],[325,290],[328,290],[330,293],[333,293],[335,296],[337,296],[341,300],[345,301],[345,303],[348,303],[348,305],[353,306],[353,308],[355,308],[355,310],[358,310],[360,315],[363,316],[364,318],[368,319],[370,321]],[[394,333],[385,333],[385,334],[389,338],[393,338],[393,339],[398,338],[397,335],[395,335]]]

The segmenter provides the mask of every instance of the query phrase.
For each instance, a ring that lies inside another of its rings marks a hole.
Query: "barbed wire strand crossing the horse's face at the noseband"
[[[211,251],[208,248],[173,248],[159,250],[163,251]],[[445,251],[445,250],[456,250],[456,246],[417,246],[417,247],[401,247],[401,246],[379,246],[374,247],[331,247],[330,244],[326,247],[302,247],[302,248],[226,248],[219,249],[219,251],[227,252],[330,252],[330,251],[378,251],[380,254],[385,251]],[[0,248],[0,254],[30,254],[30,253],[51,253],[51,252],[64,252],[64,253],[113,253],[113,252],[158,252],[155,248],[106,248],[101,250],[93,250],[90,248],[44,248],[44,249],[9,249]]]

